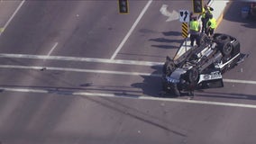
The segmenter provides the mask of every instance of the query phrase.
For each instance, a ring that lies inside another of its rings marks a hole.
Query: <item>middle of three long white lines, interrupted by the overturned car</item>
[[[19,68],[19,69],[41,70],[41,67],[36,67],[36,66],[0,65],[0,68]],[[99,69],[81,69],[81,68],[65,68],[65,67],[44,67],[44,69],[46,69],[46,70],[56,70],[56,71],[81,72],[81,73],[99,73],[99,74],[113,74],[113,75],[126,75],[126,76],[156,76],[156,77],[161,77],[161,74],[111,71],[111,70],[99,70]],[[224,79],[224,82],[225,83],[238,83],[238,84],[256,85],[256,81],[251,81],[251,80]]]

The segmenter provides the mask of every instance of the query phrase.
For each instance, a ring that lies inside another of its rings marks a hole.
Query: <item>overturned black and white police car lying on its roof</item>
[[[223,87],[222,74],[245,57],[239,41],[222,33],[213,37],[201,34],[199,47],[181,48],[174,58],[166,58],[162,69],[162,90],[176,96],[186,91]]]

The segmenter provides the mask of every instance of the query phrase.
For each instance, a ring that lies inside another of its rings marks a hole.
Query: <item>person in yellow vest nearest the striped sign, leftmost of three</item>
[[[199,35],[200,35],[200,23],[197,21],[197,17],[192,17],[192,21],[189,23],[189,30],[190,30],[190,46],[194,46],[194,41],[196,40],[197,46],[200,46],[200,40],[199,40]]]

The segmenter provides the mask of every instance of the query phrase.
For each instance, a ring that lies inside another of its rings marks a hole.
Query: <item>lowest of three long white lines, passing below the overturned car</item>
[[[100,96],[100,97],[115,97],[115,98],[126,98],[126,99],[141,99],[141,100],[152,100],[152,101],[165,101],[165,102],[176,102],[176,103],[195,103],[195,104],[206,104],[206,105],[218,105],[218,106],[231,106],[231,107],[242,107],[242,108],[256,108],[253,104],[243,103],[224,103],[224,102],[210,102],[210,101],[197,101],[197,100],[185,100],[178,98],[161,98],[161,97],[150,97],[150,96],[135,96],[129,94],[104,94],[104,93],[87,93],[87,92],[70,92],[61,90],[47,90],[47,89],[35,89],[35,88],[12,88],[12,87],[0,87],[2,91],[6,92],[22,92],[22,93],[39,93],[39,94],[69,94],[69,95],[80,95],[80,96]],[[2,92],[2,93],[4,93]]]

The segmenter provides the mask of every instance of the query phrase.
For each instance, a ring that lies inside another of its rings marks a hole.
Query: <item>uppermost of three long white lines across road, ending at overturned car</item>
[[[49,59],[49,60],[86,61],[86,62],[124,64],[124,65],[139,65],[139,66],[163,65],[163,62],[151,62],[151,61],[106,59],[106,58],[77,58],[77,57],[26,55],[26,54],[6,54],[6,53],[0,53],[0,58],[33,58],[33,59]]]

